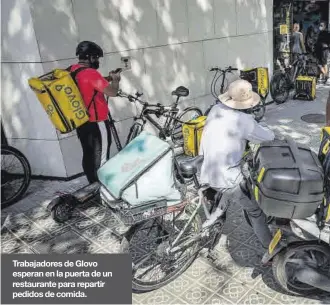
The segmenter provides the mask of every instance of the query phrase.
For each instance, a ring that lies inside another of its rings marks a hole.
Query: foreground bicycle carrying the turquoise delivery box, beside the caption
[[[221,238],[229,202],[221,203],[222,213],[212,225],[203,226],[201,216],[210,218],[224,192],[214,200],[216,191],[199,184],[197,172],[202,162],[203,156],[197,156],[178,164],[183,177],[195,182],[198,195],[194,199],[185,197],[180,205],[167,208],[164,215],[133,224],[123,234],[120,253],[132,254],[134,292],[152,291],[172,282],[203,250],[215,259],[213,251]]]

